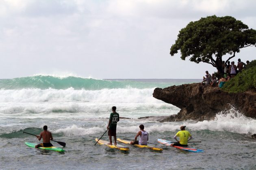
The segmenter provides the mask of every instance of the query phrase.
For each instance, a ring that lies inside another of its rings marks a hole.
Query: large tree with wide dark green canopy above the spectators
[[[208,63],[223,73],[223,55],[231,55],[225,61],[235,57],[240,49],[255,46],[256,30],[234,17],[216,17],[215,15],[190,22],[180,30],[175,44],[171,46],[171,56],[180,50],[181,59],[190,57],[191,62]]]

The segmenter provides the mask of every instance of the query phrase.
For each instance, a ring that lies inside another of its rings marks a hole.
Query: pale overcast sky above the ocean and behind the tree
[[[169,54],[179,31],[211,15],[256,29],[255,9],[255,0],[0,0],[0,79],[202,79],[216,69]]]

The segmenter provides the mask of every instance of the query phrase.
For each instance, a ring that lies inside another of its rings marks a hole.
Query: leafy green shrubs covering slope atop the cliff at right
[[[256,91],[256,60],[252,60],[252,62],[246,66],[246,69],[243,69],[241,73],[226,82],[222,90],[229,93],[238,93],[248,90]]]

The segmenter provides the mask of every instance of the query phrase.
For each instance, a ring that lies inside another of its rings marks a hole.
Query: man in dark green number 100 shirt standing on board
[[[110,114],[109,121],[108,121],[108,137],[110,142],[108,144],[112,145],[112,136],[114,136],[115,139],[115,145],[117,144],[117,122],[119,121],[119,114],[115,112],[116,106],[112,107],[113,113]]]

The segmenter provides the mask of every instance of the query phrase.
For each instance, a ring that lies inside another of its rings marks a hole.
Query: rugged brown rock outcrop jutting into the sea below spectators
[[[210,120],[216,113],[237,108],[247,117],[256,118],[256,92],[227,93],[219,87],[206,87],[200,83],[154,89],[153,97],[180,108],[177,115],[163,121]]]

